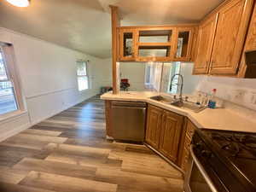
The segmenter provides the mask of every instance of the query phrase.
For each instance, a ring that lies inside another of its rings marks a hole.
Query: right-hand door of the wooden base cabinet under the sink
[[[165,112],[160,136],[160,152],[173,162],[177,161],[177,152],[183,131],[183,116]]]

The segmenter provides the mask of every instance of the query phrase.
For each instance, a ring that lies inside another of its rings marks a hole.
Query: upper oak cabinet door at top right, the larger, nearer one
[[[219,11],[212,49],[211,74],[237,73],[253,0],[234,0]]]

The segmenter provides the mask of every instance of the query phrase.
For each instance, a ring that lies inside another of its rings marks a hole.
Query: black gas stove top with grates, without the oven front
[[[256,190],[256,133],[203,129],[201,137],[236,177]]]

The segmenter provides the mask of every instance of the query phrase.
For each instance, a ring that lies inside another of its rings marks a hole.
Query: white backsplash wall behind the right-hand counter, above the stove
[[[205,77],[196,90],[210,93],[214,88],[219,98],[256,110],[256,79]]]

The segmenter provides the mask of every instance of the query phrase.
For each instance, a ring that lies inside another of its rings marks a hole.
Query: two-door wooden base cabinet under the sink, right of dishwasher
[[[145,142],[174,163],[177,163],[182,131],[182,115],[152,105],[148,106]]]

